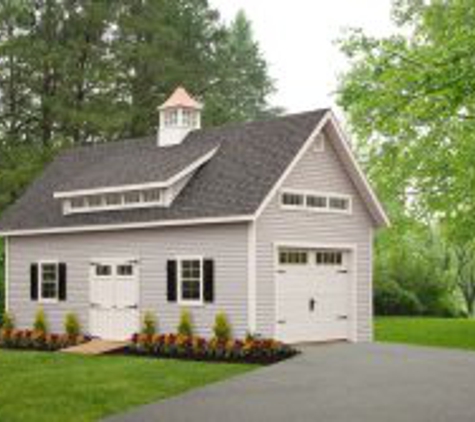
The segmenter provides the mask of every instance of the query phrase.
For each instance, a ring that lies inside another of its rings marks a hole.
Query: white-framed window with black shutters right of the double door
[[[178,263],[178,302],[186,305],[203,303],[203,258],[182,257]]]

